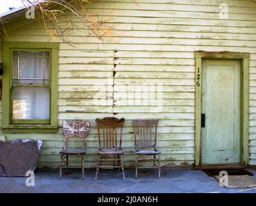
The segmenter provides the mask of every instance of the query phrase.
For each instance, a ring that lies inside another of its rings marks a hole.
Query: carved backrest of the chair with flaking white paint
[[[79,136],[83,138],[83,149],[86,147],[86,138],[90,129],[90,122],[86,120],[64,120],[63,134],[64,134],[64,149],[68,149],[68,139],[72,136]]]

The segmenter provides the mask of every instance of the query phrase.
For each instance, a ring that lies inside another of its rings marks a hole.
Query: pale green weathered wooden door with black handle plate
[[[202,164],[239,163],[241,62],[202,61]]]

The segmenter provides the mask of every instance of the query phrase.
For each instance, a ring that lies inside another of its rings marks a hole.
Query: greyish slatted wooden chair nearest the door
[[[158,120],[133,120],[134,142],[135,142],[135,178],[138,169],[158,168],[159,178],[161,176],[161,152],[157,150],[157,125]],[[139,156],[153,155],[153,158],[139,158]],[[158,158],[156,158],[156,156]],[[139,160],[144,162],[153,161],[153,165],[139,167]],[[158,162],[158,164],[156,164]]]

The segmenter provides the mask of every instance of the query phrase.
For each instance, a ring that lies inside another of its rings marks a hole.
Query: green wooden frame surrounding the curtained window
[[[13,51],[44,51],[50,52],[50,121],[12,120],[12,52]],[[3,42],[3,96],[2,96],[2,129],[56,129],[57,120],[57,72],[58,42]],[[28,130],[30,131],[30,130]]]

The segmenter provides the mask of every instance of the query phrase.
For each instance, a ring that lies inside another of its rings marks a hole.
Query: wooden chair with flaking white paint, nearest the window
[[[86,138],[90,129],[90,122],[86,120],[64,120],[63,121],[63,134],[64,134],[64,148],[59,153],[61,154],[61,162],[59,166],[59,179],[61,180],[61,174],[63,167],[68,169],[70,162],[81,162],[82,174],[84,180],[84,155],[86,154]],[[73,136],[79,136],[83,138],[82,149],[70,149],[68,147],[68,140]],[[81,155],[81,161],[68,160],[69,155]]]

